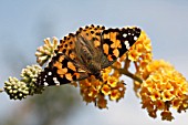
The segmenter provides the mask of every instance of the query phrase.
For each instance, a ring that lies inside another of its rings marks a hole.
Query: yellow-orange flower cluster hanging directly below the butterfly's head
[[[103,71],[103,82],[93,75],[80,81],[81,95],[86,103],[93,102],[100,108],[107,108],[107,97],[109,101],[119,101],[124,97],[125,84],[118,81],[117,72],[113,72],[112,75],[109,73],[112,67]]]

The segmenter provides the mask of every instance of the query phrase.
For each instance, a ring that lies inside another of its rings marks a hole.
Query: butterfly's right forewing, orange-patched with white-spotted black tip
[[[107,60],[103,61],[102,67],[109,66],[117,58],[126,53],[139,35],[140,29],[137,27],[104,30],[102,33],[102,48]]]

